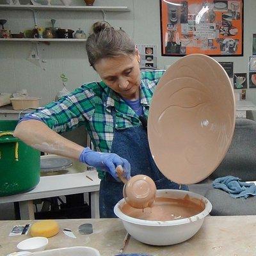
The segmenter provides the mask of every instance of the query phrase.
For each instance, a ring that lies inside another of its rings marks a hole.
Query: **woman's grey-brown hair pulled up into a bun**
[[[108,22],[98,21],[92,26],[92,33],[86,40],[86,51],[90,65],[103,58],[135,54],[135,45],[123,29],[115,29]]]

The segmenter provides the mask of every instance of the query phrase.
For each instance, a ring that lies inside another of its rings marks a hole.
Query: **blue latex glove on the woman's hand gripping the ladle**
[[[131,178],[131,164],[124,158],[113,153],[100,153],[91,150],[89,147],[84,148],[79,157],[81,163],[86,163],[104,172],[109,172],[116,180],[120,181],[116,173],[116,166],[122,165],[124,177]]]

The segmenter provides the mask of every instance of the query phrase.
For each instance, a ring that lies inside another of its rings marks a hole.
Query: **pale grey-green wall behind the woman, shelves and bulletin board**
[[[78,1],[82,0],[73,1],[79,4]],[[156,44],[159,68],[164,68],[179,58],[161,56],[158,0],[95,0],[95,5],[128,6],[131,12],[108,12],[107,20],[117,28],[122,27],[134,38],[136,44]],[[234,61],[234,72],[248,72],[248,59],[252,54],[252,33],[256,33],[255,13],[256,1],[244,0],[244,56],[216,58],[218,61]],[[71,11],[41,11],[38,12],[37,17],[38,26],[51,26],[50,20],[56,19],[56,27],[74,30],[82,28],[86,32],[90,30],[93,22],[103,18],[101,12]],[[32,12],[27,10],[0,10],[0,19],[8,20],[6,28],[10,28],[13,33],[33,27]],[[97,74],[88,65],[84,44],[74,42],[40,44],[41,57],[47,61],[44,71],[26,60],[32,49],[32,43],[0,42],[0,92],[13,93],[24,88],[32,95],[42,97],[42,104],[45,104],[53,100],[56,93],[61,90],[59,78],[61,73],[65,73],[69,79],[69,90],[82,83],[98,80]],[[248,90],[247,99],[256,103],[255,89]]]

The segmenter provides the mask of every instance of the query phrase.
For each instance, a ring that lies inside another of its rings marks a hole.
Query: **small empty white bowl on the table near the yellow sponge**
[[[37,236],[21,241],[17,244],[17,248],[19,251],[38,252],[43,251],[47,244],[48,239],[46,237]]]

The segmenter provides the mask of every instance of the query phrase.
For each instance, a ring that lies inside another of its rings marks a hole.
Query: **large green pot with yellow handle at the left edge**
[[[24,193],[40,180],[40,152],[13,137],[17,122],[0,120],[0,196]]]

